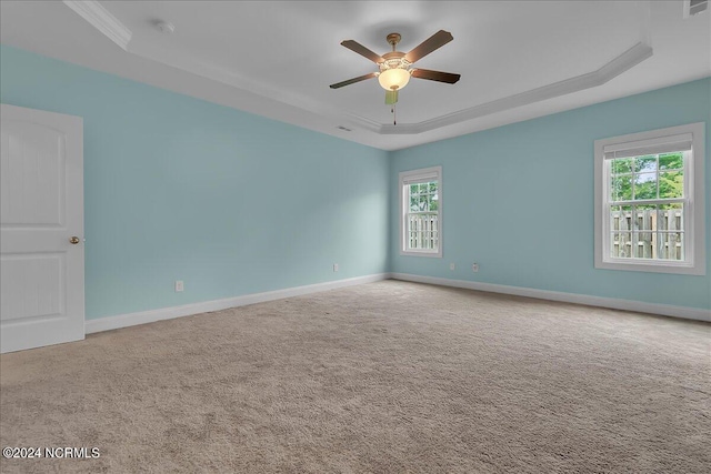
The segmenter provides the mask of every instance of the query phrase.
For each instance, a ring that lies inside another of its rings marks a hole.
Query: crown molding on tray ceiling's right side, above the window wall
[[[553,99],[560,95],[565,95],[569,93],[602,85],[605,82],[609,82],[618,75],[622,74],[623,72],[632,69],[645,59],[651,58],[653,50],[650,46],[643,42],[639,42],[595,71],[553,82],[552,84],[543,85],[530,91],[497,99],[491,102],[485,102],[469,109],[463,109],[452,113],[448,113],[445,115],[440,115],[422,122],[401,123],[398,125],[378,124],[375,127],[375,122],[362,117],[349,115],[349,120],[357,127],[374,131],[379,134],[402,135],[429,132],[442,127],[452,125],[468,120],[478,119],[480,117],[490,115],[492,113],[503,112],[504,110],[529,105],[534,102],[540,102],[543,100]]]

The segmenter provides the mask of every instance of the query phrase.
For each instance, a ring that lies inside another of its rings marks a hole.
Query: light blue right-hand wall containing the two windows
[[[399,254],[393,272],[711,309],[711,278],[595,270],[593,141],[707,123],[707,210],[711,209],[711,79],[660,89],[392,153],[398,173],[442,165],[443,258]],[[707,212],[707,236],[711,218]],[[711,246],[707,238],[707,268]],[[450,262],[457,264],[449,270]],[[471,263],[479,262],[479,273]],[[708,273],[709,273],[708,272]]]

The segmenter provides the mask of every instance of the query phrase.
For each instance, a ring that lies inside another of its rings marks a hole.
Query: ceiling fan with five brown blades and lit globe
[[[408,53],[395,50],[395,47],[401,39],[400,33],[390,33],[385,39],[392,46],[392,51],[387,52],[383,56],[379,56],[372,52],[357,41],[342,41],[341,44],[346,48],[378,64],[380,71],[371,72],[369,74],[349,79],[347,81],[337,82],[334,84],[331,84],[330,88],[339,89],[344,85],[364,81],[367,79],[378,78],[378,82],[380,82],[380,85],[385,90],[385,103],[394,104],[395,102],[398,102],[398,91],[408,84],[408,82],[410,81],[410,77],[427,79],[429,81],[444,82],[448,84],[453,84],[459,81],[459,78],[461,77],[460,74],[432,71],[430,69],[412,68],[412,64],[414,62],[452,41],[454,38],[449,31],[438,31],[427,40],[422,41],[420,46]]]

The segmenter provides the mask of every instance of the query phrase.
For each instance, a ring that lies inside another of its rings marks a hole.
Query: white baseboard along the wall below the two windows
[[[563,301],[567,303],[585,304],[588,306],[611,307],[613,310],[635,311],[640,313],[661,314],[663,316],[682,317],[685,320],[711,322],[711,311],[688,306],[672,306],[669,304],[644,303],[641,301],[619,300],[615,297],[591,296],[587,294],[563,293],[559,291],[535,290],[531,288],[509,286],[493,283],[471,282],[465,280],[450,280],[435,276],[412,275],[409,273],[391,273],[393,280],[429,283],[441,286],[463,288],[487,291],[491,293],[514,294],[517,296],[535,297],[539,300]]]

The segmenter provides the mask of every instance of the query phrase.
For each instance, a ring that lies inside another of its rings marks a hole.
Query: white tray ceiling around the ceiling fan
[[[2,1],[0,41],[371,147],[397,150],[711,75],[711,14],[683,1]],[[80,14],[81,13],[81,14]],[[89,20],[89,21],[88,21]],[[156,20],[174,24],[161,33]],[[341,47],[409,51],[392,124],[377,71]],[[339,130],[342,125],[350,132]]]

